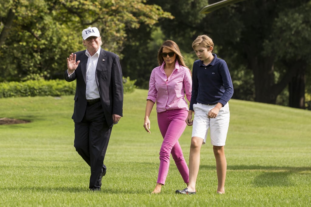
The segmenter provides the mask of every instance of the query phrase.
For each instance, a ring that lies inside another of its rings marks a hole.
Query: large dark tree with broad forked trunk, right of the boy
[[[276,97],[295,79],[295,74],[304,73],[298,70],[300,66],[307,68],[310,13],[310,1],[244,1],[207,15],[205,22],[209,24],[205,27],[210,26],[226,60],[234,58],[231,61],[252,70],[255,101],[275,104]],[[303,51],[299,51],[301,46]],[[291,64],[282,65],[285,61]],[[304,87],[299,91],[304,94]]]

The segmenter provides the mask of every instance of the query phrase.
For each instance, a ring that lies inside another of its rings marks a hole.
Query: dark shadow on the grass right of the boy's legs
[[[201,169],[216,170],[216,165],[203,165]],[[230,171],[257,171],[259,174],[253,179],[252,184],[257,187],[281,187],[296,185],[292,176],[295,174],[311,175],[311,167],[278,167],[260,165],[228,165]]]

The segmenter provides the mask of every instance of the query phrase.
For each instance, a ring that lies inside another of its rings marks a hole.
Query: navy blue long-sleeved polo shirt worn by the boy
[[[227,63],[217,58],[210,64],[204,65],[203,61],[196,60],[192,67],[192,92],[189,110],[193,110],[193,104],[216,104],[223,106],[233,95],[233,84]]]

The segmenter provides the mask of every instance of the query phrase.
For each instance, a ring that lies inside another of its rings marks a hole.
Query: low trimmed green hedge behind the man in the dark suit
[[[124,93],[133,92],[136,88],[136,80],[123,77]],[[27,97],[27,96],[65,96],[74,95],[76,81],[65,80],[27,80],[25,82],[2,82],[0,83],[0,98]]]

